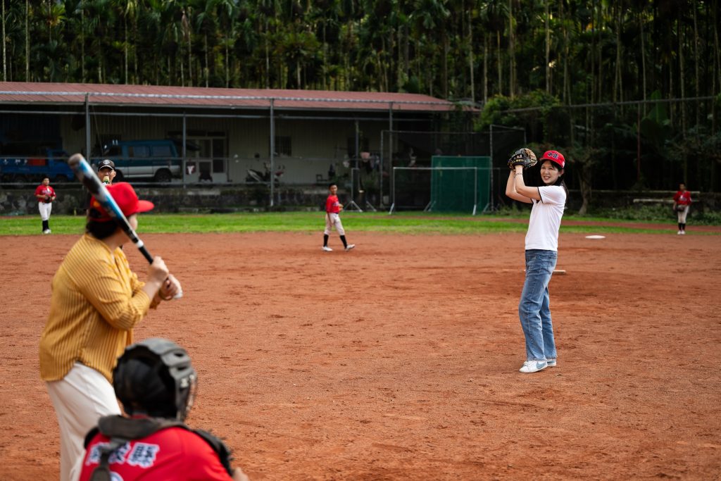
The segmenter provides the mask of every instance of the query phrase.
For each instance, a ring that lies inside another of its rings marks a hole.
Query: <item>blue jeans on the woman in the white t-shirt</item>
[[[557,357],[548,295],[557,260],[558,252],[552,250],[526,250],[526,281],[518,303],[518,317],[526,337],[526,361]]]

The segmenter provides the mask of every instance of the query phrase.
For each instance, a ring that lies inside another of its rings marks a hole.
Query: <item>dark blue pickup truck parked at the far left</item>
[[[2,182],[40,182],[43,177],[49,177],[50,182],[67,182],[75,178],[68,166],[66,151],[47,149],[45,156],[0,157]]]

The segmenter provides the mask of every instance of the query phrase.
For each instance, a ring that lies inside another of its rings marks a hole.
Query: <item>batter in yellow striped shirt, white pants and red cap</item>
[[[153,208],[130,184],[107,190],[138,227],[138,213]],[[161,257],[138,280],[120,247],[127,234],[94,198],[86,233],[61,262],[50,296],[50,314],[40,336],[40,377],[45,381],[60,426],[61,481],[83,452],[83,438],[98,418],[120,414],[110,382],[112,369],[133,342],[133,327],[161,300],[181,291]]]

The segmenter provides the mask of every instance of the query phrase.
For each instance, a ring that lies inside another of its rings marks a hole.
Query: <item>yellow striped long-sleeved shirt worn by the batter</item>
[[[133,343],[151,299],[123,250],[84,234],[53,277],[50,314],[40,337],[40,377],[63,379],[76,361],[112,383],[112,369]],[[155,307],[155,305],[152,305]]]

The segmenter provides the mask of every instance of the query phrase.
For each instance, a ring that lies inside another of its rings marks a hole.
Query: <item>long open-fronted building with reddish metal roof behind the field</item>
[[[172,139],[177,158],[168,162],[180,166],[172,182],[254,182],[253,171],[312,184],[365,167],[358,175],[382,185],[384,159],[436,150],[429,143],[414,151],[393,133],[441,131],[457,109],[423,94],[0,82],[0,157],[53,148],[97,160],[115,146],[115,155],[145,159],[157,141]],[[131,141],[148,144],[119,149]],[[121,175],[137,177],[139,161],[115,160]],[[136,180],[158,171],[143,172]]]

